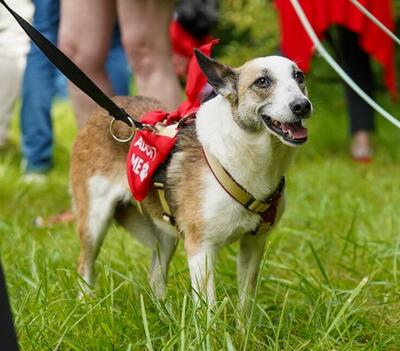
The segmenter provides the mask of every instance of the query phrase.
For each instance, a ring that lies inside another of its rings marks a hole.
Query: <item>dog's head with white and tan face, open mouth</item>
[[[310,116],[312,105],[304,74],[293,61],[268,56],[231,68],[198,50],[195,55],[208,82],[231,104],[242,129],[267,131],[290,146],[307,141],[303,120]]]

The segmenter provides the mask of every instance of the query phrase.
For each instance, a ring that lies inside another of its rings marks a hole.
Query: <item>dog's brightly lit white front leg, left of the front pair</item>
[[[202,299],[208,304],[213,304],[215,302],[213,268],[216,248],[207,243],[203,243],[199,247],[193,247],[188,240],[185,242],[185,247],[188,256],[193,299],[195,303]]]

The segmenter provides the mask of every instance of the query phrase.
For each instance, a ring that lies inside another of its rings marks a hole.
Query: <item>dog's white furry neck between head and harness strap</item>
[[[267,131],[249,133],[241,129],[233,120],[229,102],[221,95],[201,106],[196,128],[203,147],[256,199],[275,190],[294,155],[294,148]]]

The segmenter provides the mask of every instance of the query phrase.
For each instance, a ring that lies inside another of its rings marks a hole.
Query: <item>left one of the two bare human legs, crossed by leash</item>
[[[59,46],[108,95],[112,95],[112,88],[105,62],[115,21],[114,0],[61,1]],[[73,84],[69,88],[82,127],[96,104]]]

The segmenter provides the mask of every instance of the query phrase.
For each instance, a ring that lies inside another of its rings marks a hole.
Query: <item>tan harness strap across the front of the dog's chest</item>
[[[262,222],[273,224],[276,217],[276,207],[285,189],[285,177],[282,177],[274,192],[266,200],[257,200],[249,194],[233,177],[222,167],[219,161],[205,148],[203,154],[215,178],[224,190],[237,202],[249,211],[262,217]]]

